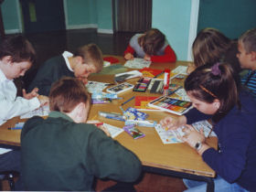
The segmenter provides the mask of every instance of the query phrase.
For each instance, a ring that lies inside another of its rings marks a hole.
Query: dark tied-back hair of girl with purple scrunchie
[[[216,68],[218,74],[213,71]],[[208,103],[215,99],[219,100],[219,110],[213,115],[215,122],[224,117],[236,104],[240,108],[239,91],[233,73],[229,64],[206,64],[195,69],[185,80],[185,90],[197,100]]]

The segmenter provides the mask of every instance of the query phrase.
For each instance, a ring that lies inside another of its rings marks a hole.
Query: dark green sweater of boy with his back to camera
[[[92,124],[61,112],[33,117],[21,133],[22,176],[27,190],[87,191],[94,176],[133,182],[142,165],[133,152]]]

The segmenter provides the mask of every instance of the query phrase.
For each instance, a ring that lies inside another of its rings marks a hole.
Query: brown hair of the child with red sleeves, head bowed
[[[138,43],[145,54],[155,55],[165,45],[165,35],[157,28],[152,28],[138,38]]]

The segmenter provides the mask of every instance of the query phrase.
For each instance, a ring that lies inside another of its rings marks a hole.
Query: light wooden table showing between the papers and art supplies
[[[123,63],[124,60],[121,57],[116,57]],[[151,68],[155,69],[175,69],[178,65],[187,65],[187,62],[177,61],[176,63],[153,63]],[[91,76],[90,80],[99,80],[104,82],[113,82],[113,75],[104,76]],[[128,80],[134,83],[138,80]],[[120,94],[123,100],[113,101],[111,104],[94,104],[91,107],[89,119],[95,118],[104,122],[115,125],[117,127],[123,127],[124,123],[121,121],[110,120],[103,118],[98,114],[99,111],[103,112],[119,112],[121,109],[119,106],[123,101],[131,98],[134,95],[151,95],[160,96],[159,94],[149,94],[148,92],[133,92],[126,91]],[[134,100],[129,101],[123,105],[123,109],[133,107]],[[168,112],[147,112],[149,114],[148,120],[154,120],[159,122],[166,115],[172,115]],[[173,115],[176,117],[176,115]],[[22,120],[25,121],[25,120]],[[7,130],[7,127],[12,127],[15,123],[20,122],[16,117],[7,123],[0,126],[0,144],[20,144],[20,130]],[[192,149],[188,144],[163,144],[158,134],[155,132],[155,128],[151,127],[138,127],[140,131],[145,133],[144,138],[134,140],[127,133],[121,133],[115,139],[128,149],[133,151],[141,159],[144,167],[148,171],[154,171],[161,174],[167,174],[171,176],[186,177],[196,180],[203,180],[208,182],[208,190],[214,188],[212,178],[215,176],[215,172],[202,160],[202,157],[197,154],[195,149]],[[208,138],[207,143],[211,146],[217,146],[217,138]]]

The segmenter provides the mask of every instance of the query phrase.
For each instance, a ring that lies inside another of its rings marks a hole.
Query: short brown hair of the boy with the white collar
[[[77,49],[74,57],[80,56],[86,64],[93,65],[97,72],[103,67],[103,59],[101,49],[96,44],[88,44]]]

